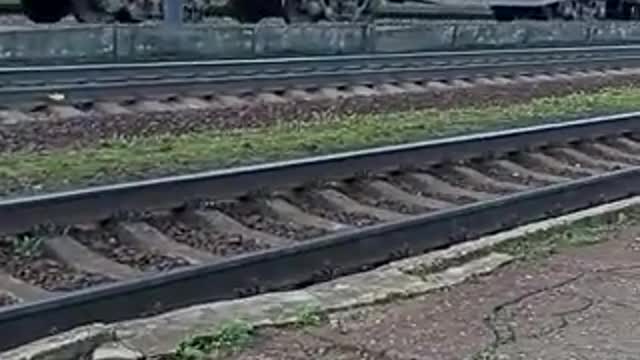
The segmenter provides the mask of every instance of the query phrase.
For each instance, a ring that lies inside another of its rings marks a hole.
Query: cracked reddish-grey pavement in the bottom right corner
[[[234,360],[637,359],[640,226],[408,300],[268,328]]]

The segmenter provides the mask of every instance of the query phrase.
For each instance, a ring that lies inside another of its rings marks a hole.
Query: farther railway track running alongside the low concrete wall
[[[421,92],[496,76],[640,64],[640,46],[537,48],[0,69],[0,121],[125,115]]]

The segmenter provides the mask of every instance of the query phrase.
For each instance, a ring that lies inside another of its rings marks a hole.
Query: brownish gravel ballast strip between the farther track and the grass
[[[502,78],[504,80],[504,78]],[[454,82],[446,89],[423,93],[377,94],[340,99],[289,100],[283,103],[254,103],[238,107],[121,115],[93,115],[17,121],[0,125],[0,151],[50,150],[95,146],[114,138],[179,136],[193,132],[261,128],[281,123],[303,125],[339,121],[337,116],[392,113],[419,109],[513,105],[536,97],[561,96],[603,87],[635,86],[636,69],[613,73],[576,73],[571,76],[515,78],[509,82]]]

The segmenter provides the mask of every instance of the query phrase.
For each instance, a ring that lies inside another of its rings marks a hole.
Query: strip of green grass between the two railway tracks
[[[105,183],[630,111],[638,104],[640,88],[610,88],[511,106],[345,115],[258,130],[105,140],[82,149],[0,155],[0,184],[12,192]]]

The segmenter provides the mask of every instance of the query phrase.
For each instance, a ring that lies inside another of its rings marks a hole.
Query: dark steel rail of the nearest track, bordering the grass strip
[[[234,167],[152,180],[0,200],[0,234],[27,231],[43,223],[71,225],[112,216],[115,212],[172,208],[210,197],[231,197],[263,188],[340,179],[358,171],[447,159],[466,159],[487,151],[505,153],[528,146],[566,143],[640,130],[640,112],[563,123],[457,136],[332,155]],[[171,194],[171,195],[168,195]]]

